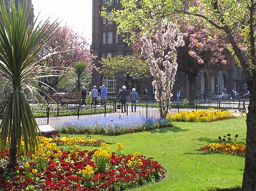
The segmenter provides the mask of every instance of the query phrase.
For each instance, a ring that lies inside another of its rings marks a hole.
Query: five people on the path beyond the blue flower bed
[[[86,105],[86,96],[87,96],[87,91],[85,87],[81,89],[81,105]],[[121,104],[121,111],[126,112],[126,100],[127,97],[129,96],[129,100],[131,102],[131,112],[136,112],[136,102],[138,100],[138,94],[136,92],[135,88],[132,88],[132,92],[130,92],[130,95],[128,94],[126,90],[126,86],[122,86],[122,90],[119,92],[117,95],[118,100]],[[99,86],[99,89],[97,89],[96,86],[93,86],[93,89],[91,90],[91,105],[97,105],[98,102],[101,102],[101,105],[106,104],[106,98],[107,98],[107,87],[105,85]]]

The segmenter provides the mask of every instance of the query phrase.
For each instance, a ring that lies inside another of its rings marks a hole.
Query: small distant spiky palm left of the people
[[[87,64],[78,61],[74,65],[74,69],[70,72],[70,82],[73,83],[75,91],[78,91],[79,100],[81,102],[81,88],[82,84],[86,84],[89,81],[91,71],[89,71]],[[80,103],[81,105],[81,103]]]

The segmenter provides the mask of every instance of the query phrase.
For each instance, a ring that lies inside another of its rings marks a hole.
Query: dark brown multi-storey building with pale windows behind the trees
[[[121,9],[121,2],[119,0],[93,0],[93,27],[92,27],[92,44],[91,50],[93,55],[98,56],[95,64],[98,68],[101,67],[99,60],[101,58],[107,58],[107,56],[116,55],[133,55],[132,48],[122,39],[122,35],[117,33],[117,27],[112,20],[107,20],[105,17],[101,17],[101,7],[106,6],[107,2],[111,4],[108,7],[109,14],[111,9]],[[185,73],[178,71],[175,77],[175,85],[173,87],[173,93],[179,91],[180,98],[185,99],[189,97],[189,81],[188,76]],[[154,97],[154,88],[151,84],[152,79],[144,82],[140,85],[139,95],[144,96],[144,92],[147,92],[148,97]],[[105,85],[108,89],[108,95],[117,95],[122,86],[127,87],[127,91],[132,90],[131,84],[123,78],[104,78],[103,74],[99,71],[93,71],[91,79],[91,87]],[[208,97],[211,98],[211,93],[221,92],[227,90],[227,92],[235,89],[243,94],[247,87],[245,84],[244,75],[242,70],[235,64],[227,66],[221,71],[215,71],[212,73],[209,67],[202,66],[198,75],[193,81],[194,99],[203,99],[203,92],[206,91]]]

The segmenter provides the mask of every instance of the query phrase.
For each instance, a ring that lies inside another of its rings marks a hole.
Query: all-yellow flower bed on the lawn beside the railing
[[[175,114],[168,113],[167,119],[176,122],[214,122],[217,120],[224,120],[227,118],[235,118],[233,112],[229,110],[193,110],[192,112],[182,111]]]

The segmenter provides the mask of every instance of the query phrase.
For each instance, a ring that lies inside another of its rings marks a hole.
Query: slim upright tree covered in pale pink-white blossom
[[[178,66],[176,47],[184,45],[183,37],[173,23],[163,19],[153,36],[144,35],[142,42],[142,56],[150,65],[160,117],[165,118],[170,109],[171,90]]]

